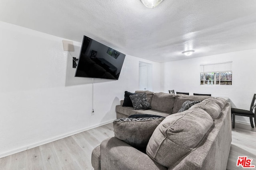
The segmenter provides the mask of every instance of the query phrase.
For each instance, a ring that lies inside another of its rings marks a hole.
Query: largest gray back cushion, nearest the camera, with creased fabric
[[[212,125],[212,117],[199,108],[169,115],[156,127],[146,153],[169,168],[193,150]]]

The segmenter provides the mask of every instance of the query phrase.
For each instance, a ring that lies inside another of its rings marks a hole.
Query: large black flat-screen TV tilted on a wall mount
[[[76,77],[118,80],[125,55],[84,35]]]

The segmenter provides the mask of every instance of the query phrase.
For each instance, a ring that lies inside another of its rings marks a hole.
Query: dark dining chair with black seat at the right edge
[[[233,119],[232,127],[233,128],[235,128],[235,117],[236,117],[236,115],[250,117],[250,123],[251,123],[252,128],[254,128],[253,121],[252,121],[252,118],[254,118],[254,124],[255,124],[255,127],[256,127],[256,118],[255,118],[255,106],[256,106],[256,104],[254,104],[255,100],[256,100],[256,94],[253,95],[250,110],[231,108],[231,115],[232,115],[232,119]],[[254,113],[253,113],[253,110],[254,110]]]

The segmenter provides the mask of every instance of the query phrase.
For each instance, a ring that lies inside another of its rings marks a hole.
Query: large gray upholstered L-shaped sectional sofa
[[[225,170],[231,145],[231,107],[223,98],[188,96],[184,94],[146,92],[151,109],[134,110],[116,106],[117,118],[134,114],[166,117],[153,132],[145,127],[140,131],[152,133],[143,152],[118,139],[122,129],[114,121],[115,137],[102,141],[92,152],[96,170]],[[185,101],[202,101],[177,113]],[[120,120],[120,119],[119,119]],[[122,120],[122,119],[121,119]],[[149,120],[148,123],[150,123]],[[119,123],[119,124],[118,124]],[[140,122],[136,122],[137,125]],[[134,128],[136,123],[130,123]],[[145,123],[145,121],[144,121]],[[149,124],[150,125],[150,124]],[[129,128],[129,127],[127,127]],[[128,140],[129,140],[129,135]],[[134,135],[130,135],[134,138]],[[140,136],[138,136],[139,138]],[[134,139],[130,139],[134,140]]]

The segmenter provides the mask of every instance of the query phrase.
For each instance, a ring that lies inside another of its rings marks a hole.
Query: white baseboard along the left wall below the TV
[[[72,135],[76,135],[77,133],[81,133],[81,132],[84,132],[84,131],[88,131],[90,129],[93,129],[95,127],[99,127],[99,126],[102,126],[102,125],[106,125],[108,123],[112,123],[115,119],[113,120],[110,120],[110,121],[106,121],[106,122],[103,122],[103,123],[100,123],[98,125],[93,125],[93,126],[90,126],[90,127],[86,127],[84,129],[80,129],[78,131],[73,131],[73,132],[70,132],[70,133],[66,133],[64,135],[60,135],[60,136],[57,136],[57,137],[53,137],[51,139],[46,139],[45,141],[41,141],[41,142],[38,142],[38,143],[34,143],[34,144],[31,144],[31,145],[28,145],[26,147],[21,147],[19,149],[15,149],[15,150],[11,150],[9,152],[5,152],[5,153],[2,153],[0,154],[0,158],[3,158],[3,157],[6,157],[6,156],[10,156],[12,154],[16,154],[18,152],[22,152],[24,150],[28,150],[28,149],[32,149],[32,148],[35,148],[35,147],[39,147],[41,145],[44,145],[46,143],[50,143],[50,142],[54,142],[54,141],[57,141],[59,139],[63,139],[65,137],[69,137],[69,136],[72,136]]]

